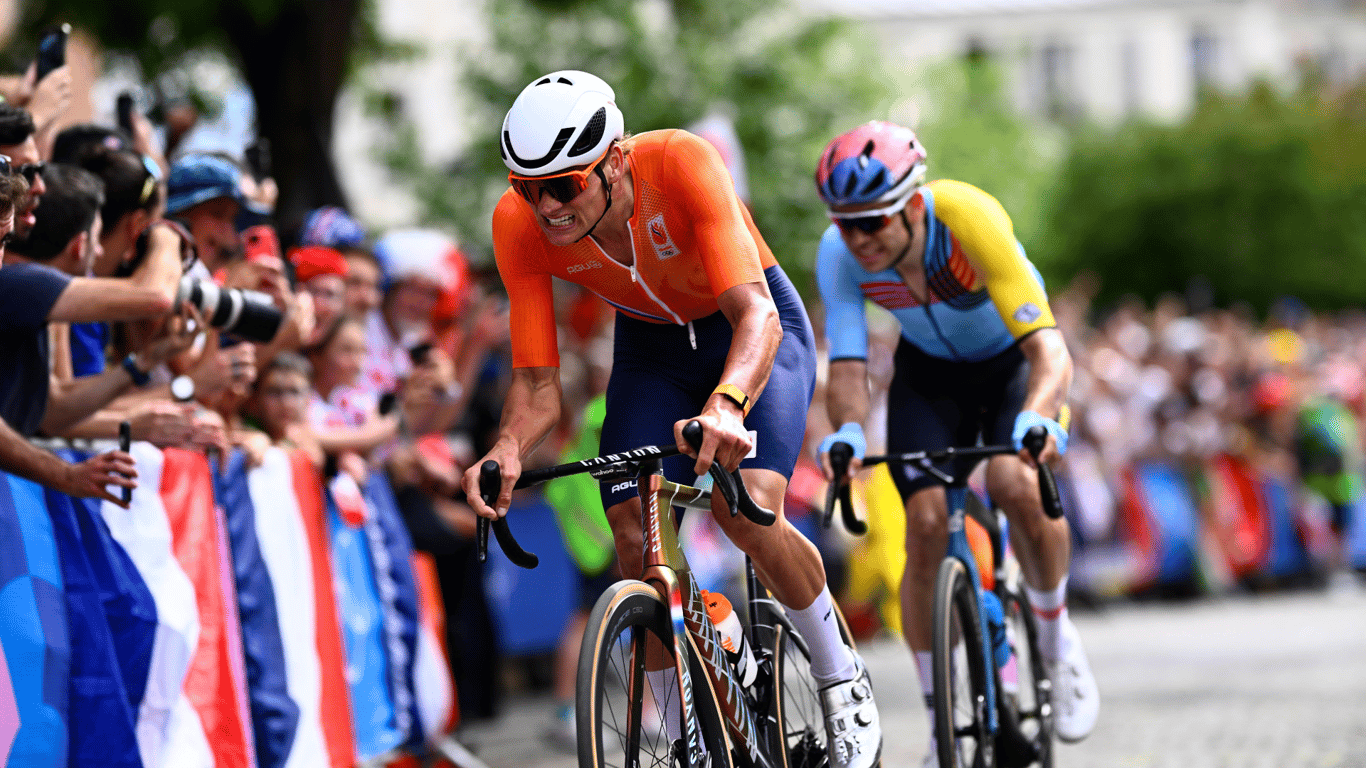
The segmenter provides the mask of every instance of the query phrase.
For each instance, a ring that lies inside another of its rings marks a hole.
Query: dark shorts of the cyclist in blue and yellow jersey
[[[1019,344],[978,362],[953,362],[921,351],[904,338],[887,394],[887,452],[910,454],[959,445],[1009,443],[1029,389],[1029,361]],[[936,465],[959,476],[977,459]],[[892,465],[902,500],[938,478],[911,465]]]

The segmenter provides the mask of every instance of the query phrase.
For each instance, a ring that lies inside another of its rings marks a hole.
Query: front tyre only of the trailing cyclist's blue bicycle
[[[964,629],[962,640],[967,656],[968,687],[971,689],[973,728],[977,750],[971,765],[959,761],[958,735],[953,724],[953,619]],[[982,656],[982,634],[978,623],[977,594],[967,568],[956,558],[940,563],[934,579],[934,626],[932,667],[934,671],[934,742],[941,768],[993,768],[994,745],[986,731],[986,661]],[[970,631],[967,631],[970,630]]]

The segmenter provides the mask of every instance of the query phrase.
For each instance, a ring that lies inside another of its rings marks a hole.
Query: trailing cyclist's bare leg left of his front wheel
[[[934,578],[948,548],[948,496],[941,485],[906,500],[906,571],[902,574],[902,635],[911,650],[929,652],[934,622]]]

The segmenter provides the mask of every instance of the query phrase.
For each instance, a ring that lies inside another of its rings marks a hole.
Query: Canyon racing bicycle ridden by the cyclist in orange
[[[701,447],[698,422],[690,422],[683,436],[694,448]],[[749,558],[746,637],[757,660],[750,685],[742,685],[723,649],[679,547],[673,514],[675,507],[710,511],[712,493],[664,478],[660,461],[678,454],[672,444],[645,445],[529,470],[516,481],[516,488],[526,488],[589,473],[600,481],[635,480],[641,496],[642,578],[612,585],[594,605],[583,634],[576,698],[579,765],[824,767],[825,720],[810,649]],[[479,471],[479,492],[492,504],[501,488],[499,465],[485,462]],[[743,512],[759,525],[776,522],[772,511],[750,499],[738,471],[727,473],[713,463],[710,476],[732,515]],[[493,532],[510,560],[535,567],[535,556],[516,544],[507,518],[494,522]],[[481,559],[486,543],[488,521],[479,518]],[[852,648],[844,616],[839,620]],[[668,668],[673,672],[647,672]],[[663,713],[671,712],[678,720],[664,723]],[[678,737],[669,738],[669,731]]]

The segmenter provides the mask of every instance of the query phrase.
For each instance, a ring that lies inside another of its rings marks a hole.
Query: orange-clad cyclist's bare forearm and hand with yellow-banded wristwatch
[[[753,404],[764,392],[773,358],[783,340],[783,325],[777,306],[765,283],[742,283],[716,298],[721,313],[731,323],[731,351],[717,384],[734,384],[749,395]],[[754,447],[744,428],[744,414],[729,398],[713,394],[697,417],[702,422],[702,450],[697,452],[697,474],[706,474],[713,458],[727,470],[735,470]],[[683,440],[683,425],[691,418],[673,424],[673,439],[679,450],[691,455],[693,448]]]

